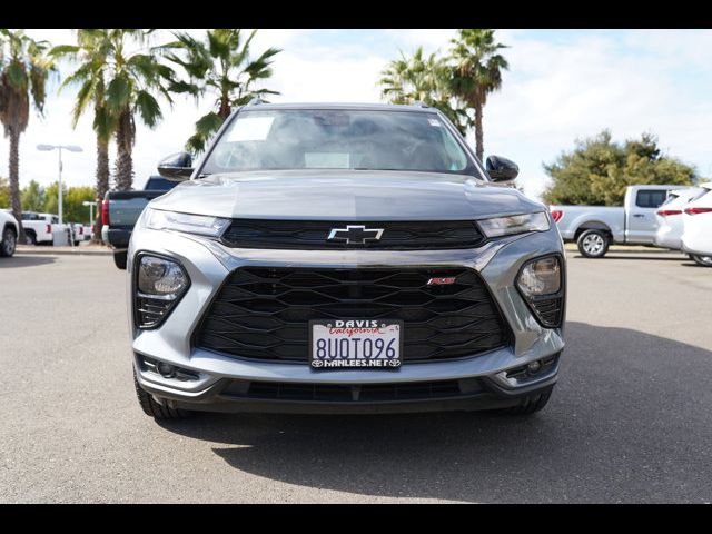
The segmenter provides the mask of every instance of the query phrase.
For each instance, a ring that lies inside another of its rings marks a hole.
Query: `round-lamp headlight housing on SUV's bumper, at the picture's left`
[[[190,285],[182,266],[170,258],[139,254],[136,259],[135,318],[139,328],[156,328]]]

